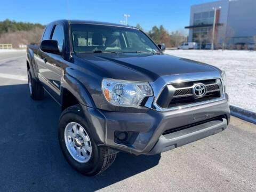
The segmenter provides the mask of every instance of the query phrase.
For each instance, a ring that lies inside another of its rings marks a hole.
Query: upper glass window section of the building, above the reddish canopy
[[[214,11],[194,13],[194,25],[212,25],[214,19]]]

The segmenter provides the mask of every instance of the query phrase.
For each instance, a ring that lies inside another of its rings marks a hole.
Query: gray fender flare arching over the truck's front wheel
[[[68,74],[63,75],[63,77],[61,78],[61,95],[63,93],[63,89],[67,89],[70,93],[72,93],[79,103],[87,107],[95,108],[95,104],[90,93],[86,90],[85,86],[76,78]]]

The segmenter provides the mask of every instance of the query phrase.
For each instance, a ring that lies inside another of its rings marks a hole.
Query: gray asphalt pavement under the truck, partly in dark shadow
[[[235,117],[224,132],[161,155],[119,153],[96,177],[77,173],[59,148],[60,107],[47,94],[29,98],[25,61],[0,54],[0,191],[256,191],[256,125]]]

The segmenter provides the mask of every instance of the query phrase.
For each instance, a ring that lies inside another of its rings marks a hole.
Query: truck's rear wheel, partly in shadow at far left
[[[31,82],[31,85],[30,85],[30,82]],[[28,91],[29,91],[30,97],[34,100],[42,100],[44,98],[43,86],[38,82],[36,82],[35,79],[31,76],[30,69],[28,69]]]

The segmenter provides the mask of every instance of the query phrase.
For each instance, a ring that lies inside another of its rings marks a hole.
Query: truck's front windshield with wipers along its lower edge
[[[71,24],[75,53],[159,53],[158,47],[140,30],[92,24]]]

